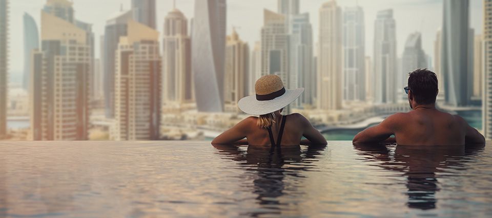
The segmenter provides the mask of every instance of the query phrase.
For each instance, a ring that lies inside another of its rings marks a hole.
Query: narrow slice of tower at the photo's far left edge
[[[0,137],[7,134],[9,1],[0,0]]]

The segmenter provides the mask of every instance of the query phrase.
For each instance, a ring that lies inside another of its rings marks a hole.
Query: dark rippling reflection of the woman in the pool
[[[282,195],[289,196],[295,201],[301,201],[298,188],[302,185],[302,171],[314,170],[317,157],[325,149],[322,146],[290,146],[276,149],[270,147],[214,145],[223,159],[237,161],[241,168],[252,171],[253,193],[257,195],[257,204],[262,210],[248,214],[259,216],[263,214],[280,214],[289,210],[288,203],[280,200]],[[285,193],[288,192],[288,193]]]

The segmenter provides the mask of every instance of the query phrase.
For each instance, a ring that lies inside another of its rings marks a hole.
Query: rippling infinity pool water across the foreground
[[[0,143],[0,216],[492,216],[485,147]]]

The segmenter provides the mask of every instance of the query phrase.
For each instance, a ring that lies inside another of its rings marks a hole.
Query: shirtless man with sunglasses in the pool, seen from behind
[[[389,116],[354,137],[354,143],[395,141],[399,145],[464,145],[485,143],[477,129],[457,115],[436,109],[437,76],[427,69],[409,73],[404,88],[412,111]],[[389,138],[392,135],[395,138]]]

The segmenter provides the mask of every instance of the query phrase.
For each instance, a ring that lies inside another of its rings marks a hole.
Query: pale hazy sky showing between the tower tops
[[[200,0],[201,1],[201,0]],[[313,25],[314,41],[318,41],[319,8],[328,0],[300,0],[301,12],[309,12]],[[392,8],[396,19],[398,55],[403,53],[406,37],[415,31],[422,33],[425,52],[434,56],[434,40],[436,31],[442,26],[442,1],[446,0],[338,0],[342,7],[359,5],[365,13],[366,54],[373,56],[374,19],[379,10]],[[75,17],[92,23],[96,36],[96,57],[99,57],[99,36],[104,34],[106,20],[120,6],[130,8],[131,0],[74,0]],[[163,20],[173,8],[173,0],[156,0],[158,31],[162,31]],[[193,17],[195,0],[176,0],[176,7],[188,19]],[[39,27],[40,10],[46,0],[11,0],[10,1],[10,69],[11,78],[19,78],[24,68],[23,45],[23,14],[34,16]],[[227,26],[228,33],[232,26],[238,27],[239,37],[253,45],[260,39],[260,28],[263,25],[263,9],[277,10],[277,0],[228,0]],[[470,0],[470,26],[475,33],[482,32],[482,0]]]

